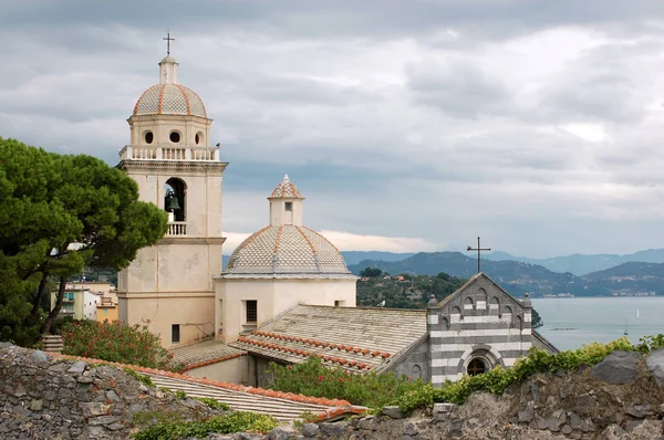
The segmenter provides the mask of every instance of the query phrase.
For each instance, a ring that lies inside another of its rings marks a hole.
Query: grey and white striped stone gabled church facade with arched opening
[[[442,385],[497,365],[510,367],[532,346],[530,300],[521,303],[484,273],[427,313],[430,381]]]

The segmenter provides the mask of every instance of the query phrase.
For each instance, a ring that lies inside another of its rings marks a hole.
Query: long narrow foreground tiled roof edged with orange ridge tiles
[[[54,356],[83,360],[87,364],[103,364],[121,368],[131,368],[135,371],[148,375],[157,387],[166,387],[173,391],[181,390],[191,397],[211,397],[218,401],[228,404],[231,409],[266,413],[282,421],[294,420],[305,411],[314,413],[319,421],[323,421],[335,419],[344,415],[362,413],[366,410],[366,408],[353,406],[346,400],[309,397],[263,388],[246,387],[237,384],[201,379],[176,373],[137,367],[135,365],[108,363],[100,359],[66,355]]]

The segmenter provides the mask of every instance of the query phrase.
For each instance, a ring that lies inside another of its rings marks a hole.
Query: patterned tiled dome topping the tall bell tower
[[[190,115],[207,117],[203,99],[181,84],[155,84],[141,95],[134,115]]]

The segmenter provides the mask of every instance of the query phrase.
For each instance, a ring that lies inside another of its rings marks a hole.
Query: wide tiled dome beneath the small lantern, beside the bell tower
[[[320,233],[293,224],[269,226],[245,240],[224,274],[351,275],[341,252]]]

